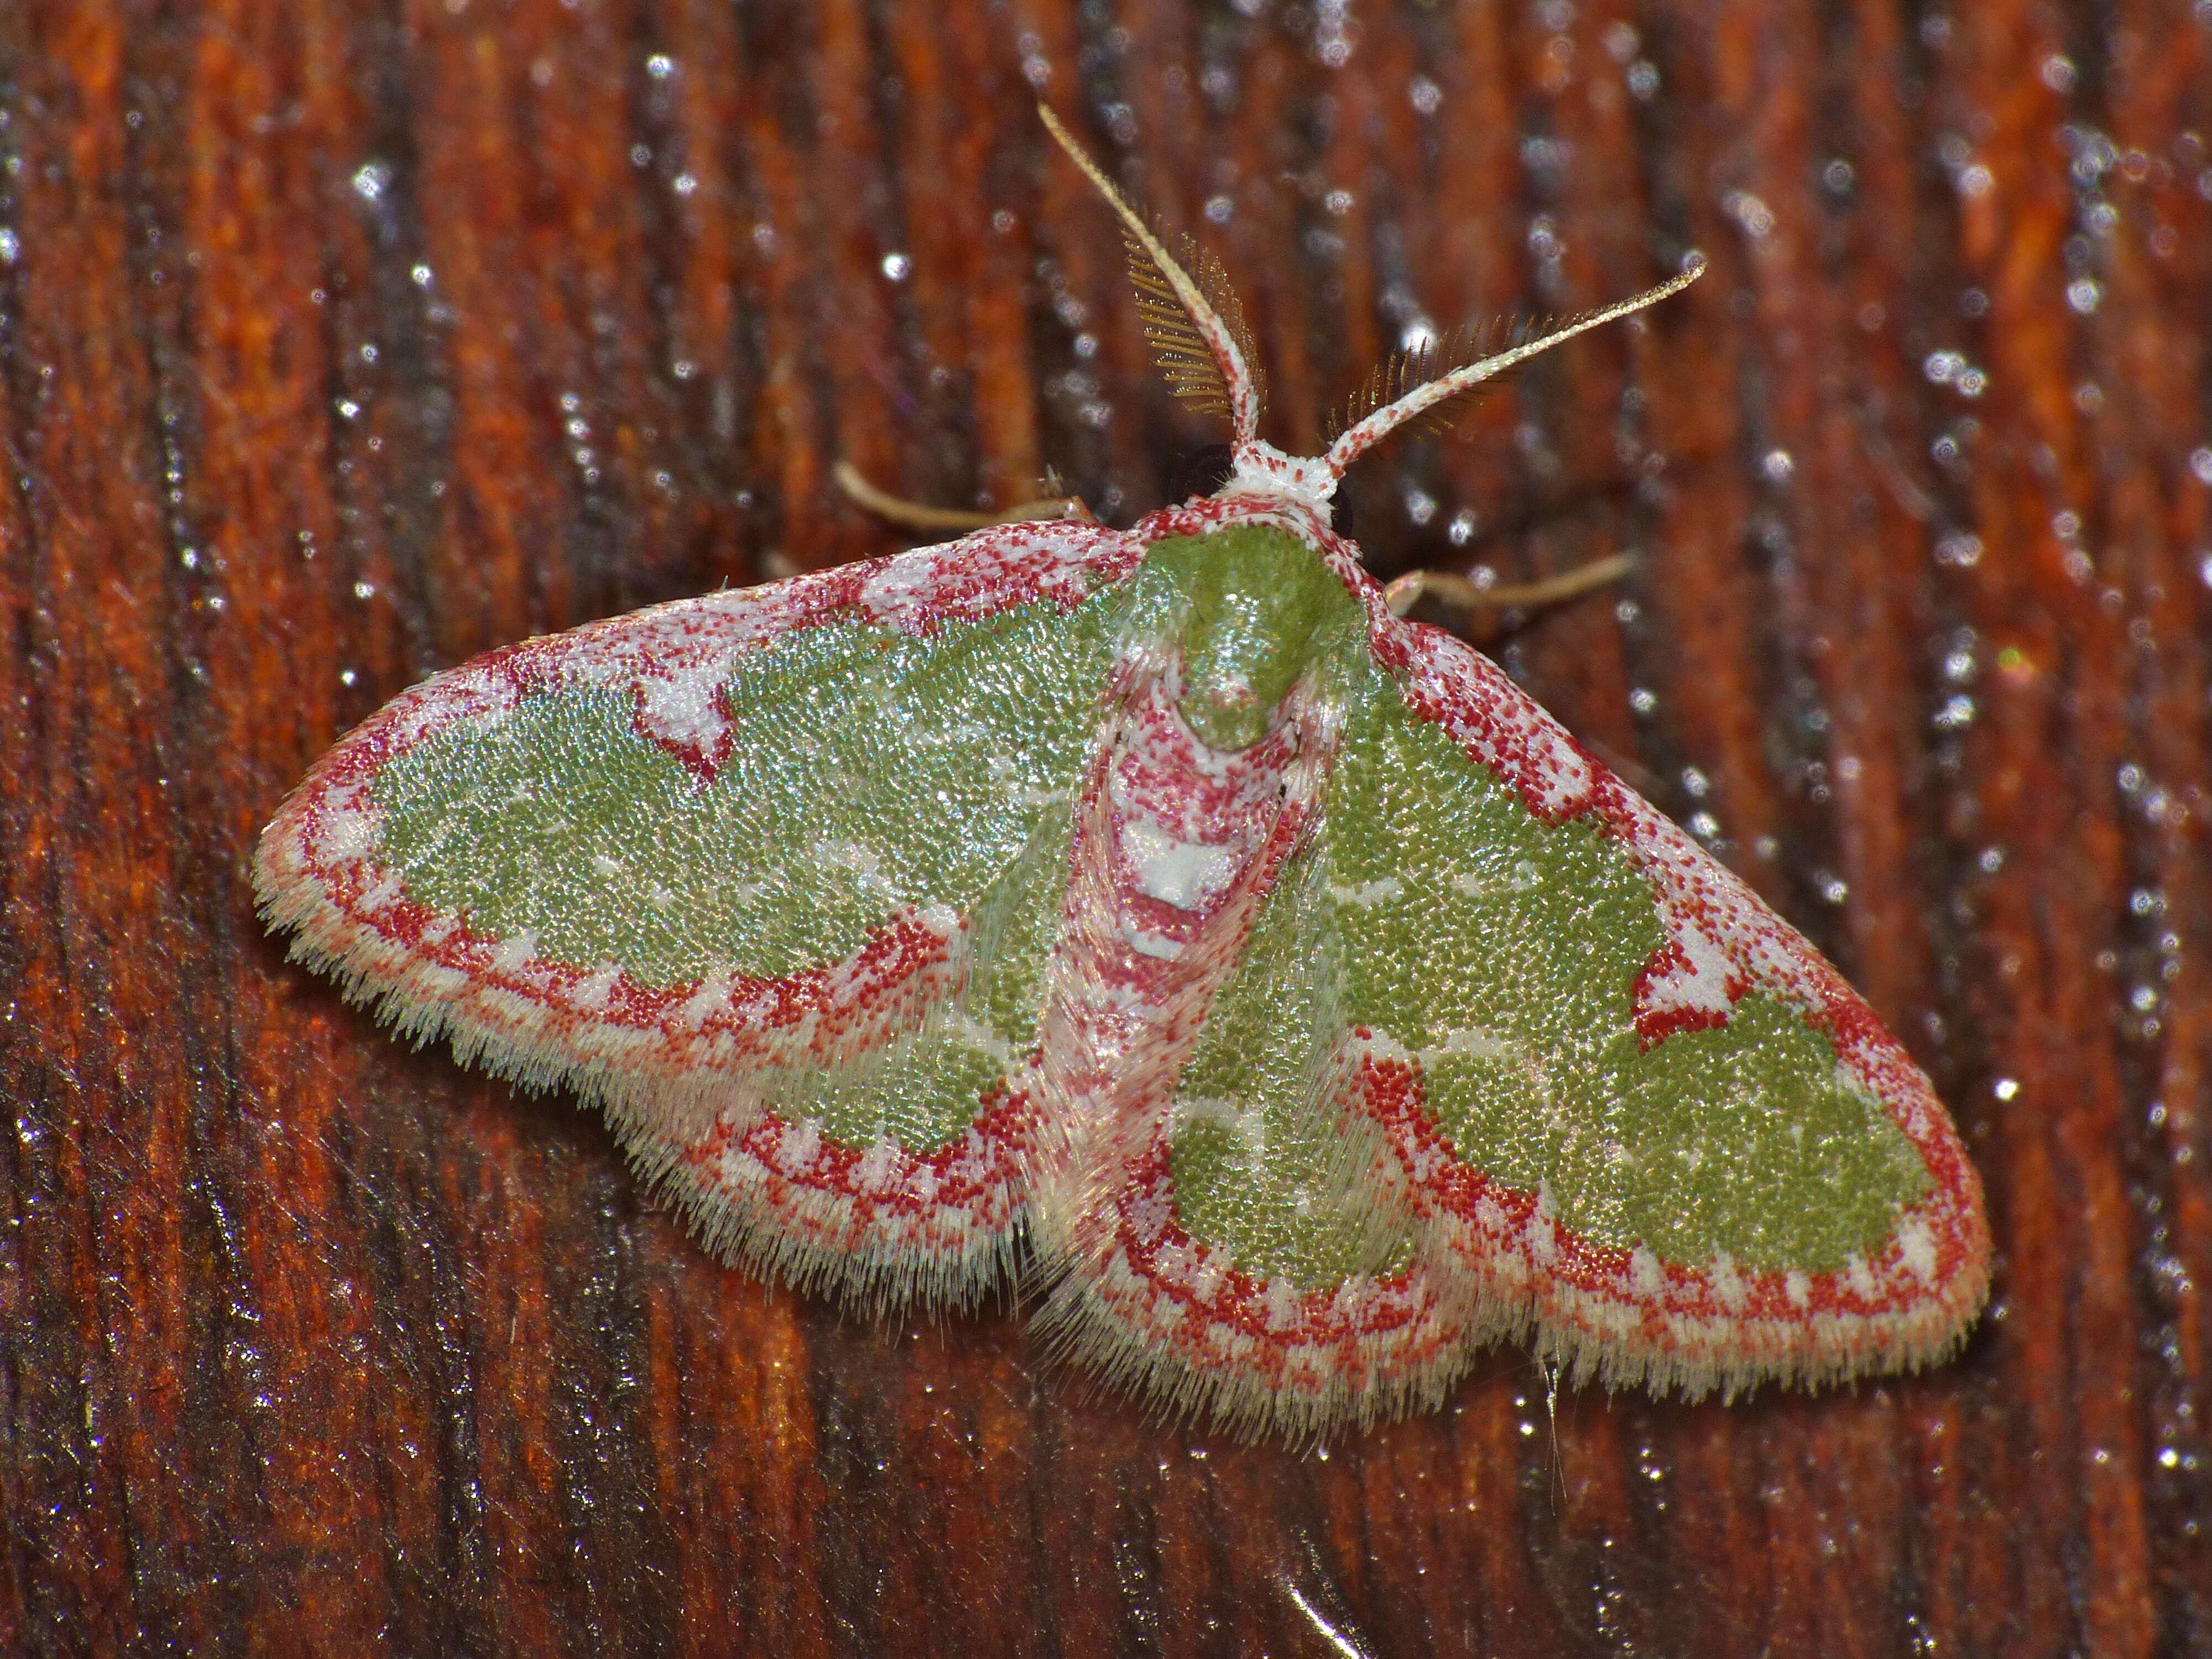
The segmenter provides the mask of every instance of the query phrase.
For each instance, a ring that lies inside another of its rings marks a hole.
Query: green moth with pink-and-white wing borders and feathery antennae
[[[726,1261],[872,1310],[1020,1279],[1055,1352],[1230,1431],[1433,1407],[1502,1338],[1690,1398],[1944,1356],[1989,1228],[1927,1077],[1332,529],[1387,434],[1697,270],[1378,374],[1296,458],[1219,263],[1046,124],[1228,482],[440,672],[285,799],[265,920],[597,1102]]]

